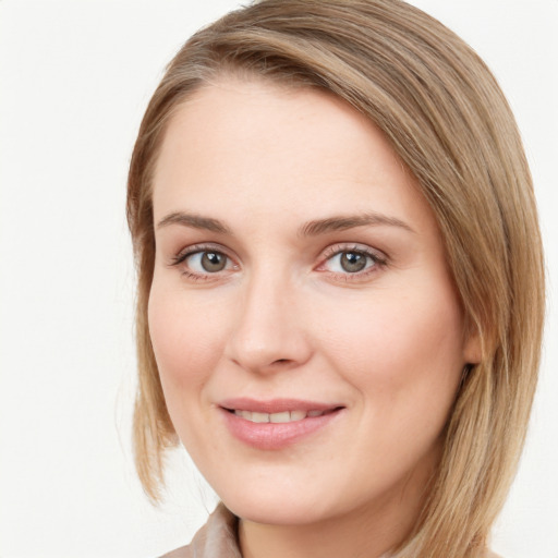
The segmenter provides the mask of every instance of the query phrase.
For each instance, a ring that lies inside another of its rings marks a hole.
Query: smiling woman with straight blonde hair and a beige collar
[[[134,436],[222,500],[171,556],[481,557],[544,312],[494,77],[396,0],[264,0],[198,32],[144,117]]]

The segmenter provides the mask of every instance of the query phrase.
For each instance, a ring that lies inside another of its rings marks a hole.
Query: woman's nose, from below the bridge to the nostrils
[[[243,287],[226,354],[236,365],[270,374],[303,365],[312,355],[296,295],[284,281],[254,277]]]

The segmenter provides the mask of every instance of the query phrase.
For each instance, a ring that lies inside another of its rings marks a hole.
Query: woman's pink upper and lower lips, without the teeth
[[[344,410],[343,405],[300,399],[255,400],[236,398],[218,404],[219,412],[233,437],[260,450],[279,450],[301,441],[322,430],[336,421]],[[289,423],[253,423],[235,415],[232,411],[256,413],[281,413],[286,411],[324,411],[319,416],[306,416]]]

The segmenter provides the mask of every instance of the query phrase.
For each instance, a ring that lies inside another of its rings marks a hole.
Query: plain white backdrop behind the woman
[[[558,558],[558,1],[414,0],[468,40],[532,165],[549,316],[530,437],[494,549]],[[234,0],[0,0],[0,556],[147,558],[215,497],[183,452],[154,509],[130,444],[126,168],[165,64]]]

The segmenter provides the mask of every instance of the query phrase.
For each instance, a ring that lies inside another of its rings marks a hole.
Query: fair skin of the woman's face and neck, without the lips
[[[380,556],[416,520],[463,366],[478,359],[414,178],[339,99],[223,77],[171,120],[153,196],[148,319],[167,405],[241,518],[243,556]],[[181,211],[223,230],[169,222]],[[303,233],[363,215],[387,219]],[[222,270],[201,255],[172,265],[207,244]],[[342,251],[360,251],[364,270],[348,272]],[[218,403],[233,397],[343,409],[270,451],[230,434]]]

